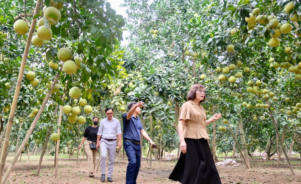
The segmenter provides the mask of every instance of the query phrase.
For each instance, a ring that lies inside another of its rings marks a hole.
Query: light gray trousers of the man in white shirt
[[[107,141],[104,139],[101,139],[100,142],[100,168],[101,168],[101,174],[106,173],[106,160],[107,160],[107,153],[109,156],[109,165],[108,165],[108,176],[112,177],[113,169],[114,169],[114,159],[115,159],[115,153],[116,153],[116,146],[117,141]]]

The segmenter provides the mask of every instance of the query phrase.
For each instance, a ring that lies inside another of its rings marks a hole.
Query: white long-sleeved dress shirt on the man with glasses
[[[117,139],[118,134],[121,134],[121,126],[118,119],[113,117],[111,121],[108,118],[100,121],[97,135],[107,139]]]

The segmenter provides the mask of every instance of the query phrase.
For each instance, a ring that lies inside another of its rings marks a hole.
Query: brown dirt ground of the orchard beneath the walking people
[[[12,160],[13,155],[9,155],[5,171]],[[76,164],[76,157],[71,160],[66,158],[66,155],[59,157],[58,177],[55,178],[54,156],[45,155],[40,175],[36,175],[37,166],[39,162],[39,155],[31,156],[30,163],[28,162],[27,155],[22,156],[22,160],[15,164],[13,171],[8,177],[7,183],[45,183],[45,184],[91,184],[102,183],[100,181],[100,168],[95,173],[94,178],[89,178],[87,174],[87,160],[80,157],[79,164]],[[219,158],[222,160],[222,158]],[[293,169],[296,175],[292,175],[287,164],[281,161],[280,168],[276,168],[277,161],[270,160],[264,161],[262,159],[250,160],[251,169],[247,169],[243,160],[239,160],[240,166],[217,166],[219,176],[223,184],[300,184],[301,183],[301,167],[299,166],[298,158],[292,160]],[[127,160],[119,159],[119,164],[115,164],[113,173],[113,183],[125,183],[125,171]],[[139,172],[137,183],[143,184],[180,184],[177,181],[168,179],[170,172],[176,164],[176,160],[152,162],[151,169],[146,160],[142,161],[142,168]],[[108,183],[107,181],[105,183]]]

